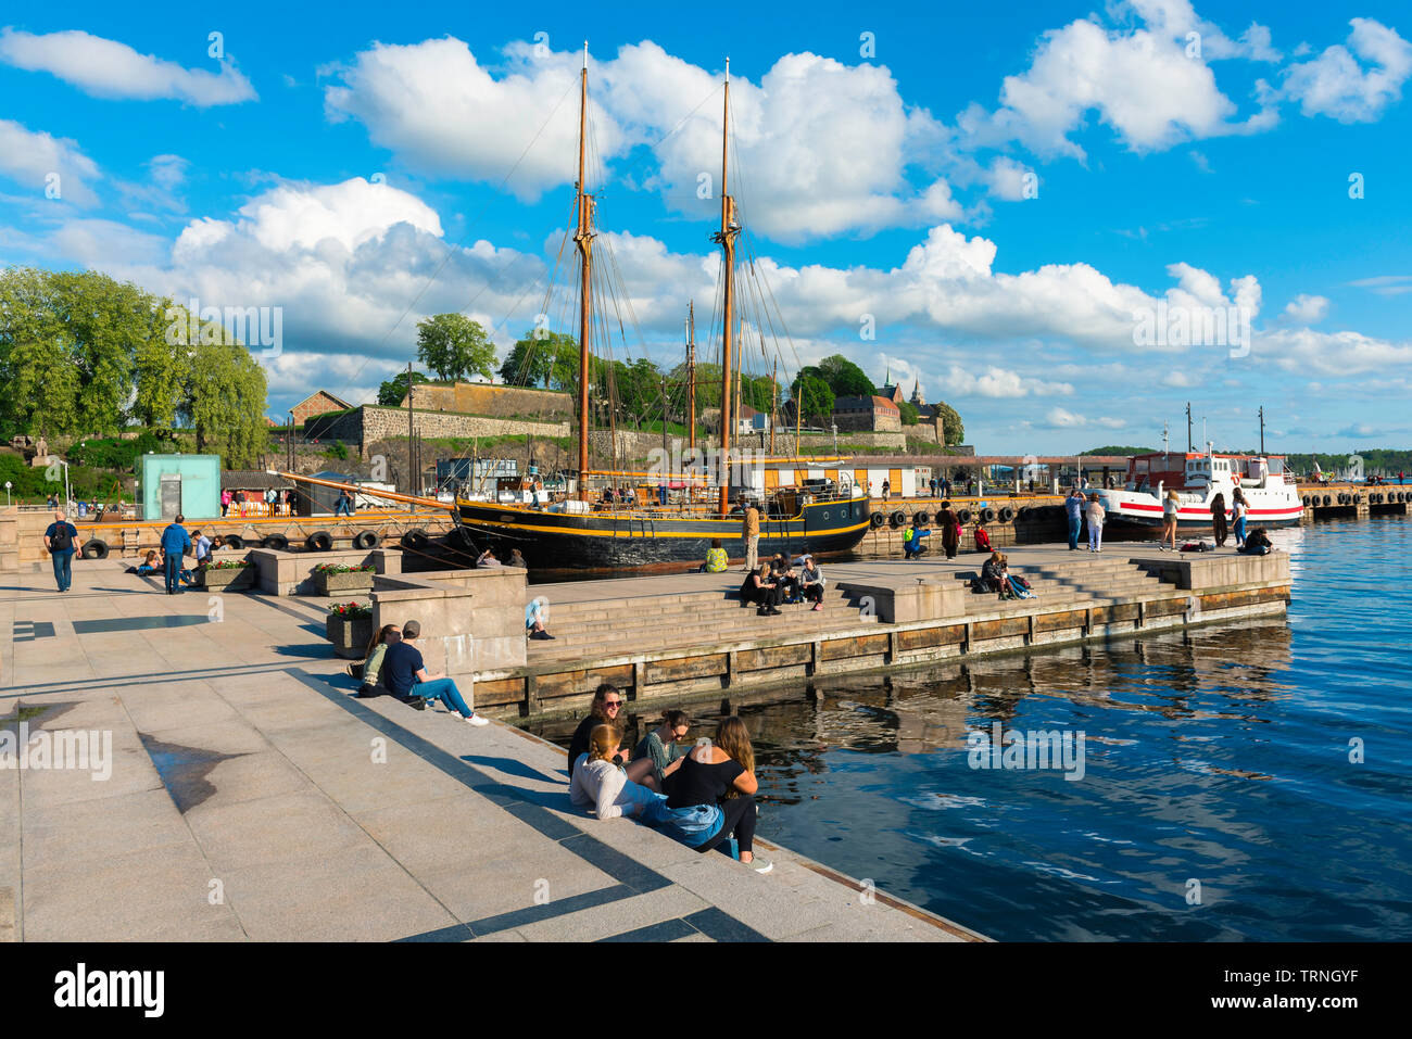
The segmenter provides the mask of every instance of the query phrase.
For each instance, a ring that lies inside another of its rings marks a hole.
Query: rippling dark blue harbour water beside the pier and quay
[[[1412,521],[1272,539],[1288,623],[733,703],[760,834],[997,939],[1412,939]],[[1083,731],[1083,778],[971,768],[995,721]]]

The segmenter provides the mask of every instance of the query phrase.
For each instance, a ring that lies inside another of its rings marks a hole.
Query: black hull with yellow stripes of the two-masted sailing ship
[[[731,559],[746,556],[738,515],[683,517],[665,508],[575,514],[459,501],[455,518],[453,545],[469,538],[501,559],[520,549],[535,570],[685,569],[706,558],[712,539],[720,539]],[[819,501],[794,517],[761,517],[760,556],[849,552],[867,531],[867,498]]]

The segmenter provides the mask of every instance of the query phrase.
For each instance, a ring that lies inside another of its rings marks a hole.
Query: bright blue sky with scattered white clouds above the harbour
[[[432,313],[573,330],[587,41],[621,360],[678,363],[688,301],[709,339],[729,58],[786,373],[916,383],[984,453],[1182,446],[1187,401],[1217,448],[1260,407],[1271,450],[1412,443],[1404,4],[193,7],[0,14],[0,264],[270,308],[273,416],[374,401]]]

